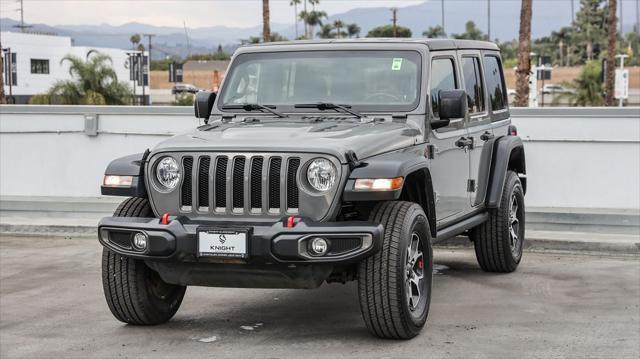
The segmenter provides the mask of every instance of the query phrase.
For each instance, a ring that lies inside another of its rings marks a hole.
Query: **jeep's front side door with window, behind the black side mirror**
[[[459,89],[459,79],[456,52],[434,52],[429,73],[431,120],[438,118],[439,92]],[[432,130],[429,136],[429,142],[433,146],[431,178],[439,226],[454,221],[464,215],[469,208],[466,192],[466,182],[469,178],[469,153],[456,145],[456,141],[466,135],[465,119],[460,118],[452,119],[447,127]]]

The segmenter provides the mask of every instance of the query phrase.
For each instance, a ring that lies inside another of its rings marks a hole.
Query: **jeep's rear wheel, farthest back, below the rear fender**
[[[524,247],[524,191],[520,178],[507,172],[502,200],[489,219],[470,233],[476,258],[486,272],[509,273],[518,268]]]

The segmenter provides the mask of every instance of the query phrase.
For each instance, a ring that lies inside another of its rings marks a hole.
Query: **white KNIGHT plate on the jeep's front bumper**
[[[200,229],[198,255],[201,257],[247,258],[248,230]]]

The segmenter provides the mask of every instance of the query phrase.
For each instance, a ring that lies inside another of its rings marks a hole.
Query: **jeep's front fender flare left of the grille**
[[[144,184],[144,164],[148,156],[149,150],[111,161],[104,171],[105,176],[131,176],[133,177],[131,186],[107,187],[103,183],[100,186],[100,192],[105,196],[147,198],[147,189]]]

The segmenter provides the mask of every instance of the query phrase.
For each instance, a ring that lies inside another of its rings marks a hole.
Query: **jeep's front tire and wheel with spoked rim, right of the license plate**
[[[429,222],[410,202],[382,202],[369,220],[384,226],[382,248],[358,265],[360,310],[380,338],[410,339],[427,321],[433,281]]]

